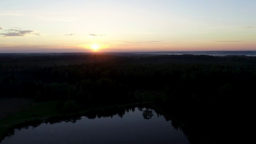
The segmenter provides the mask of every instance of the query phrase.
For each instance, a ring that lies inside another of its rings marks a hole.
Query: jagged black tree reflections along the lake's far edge
[[[87,112],[86,114],[82,114],[82,115],[74,115],[74,116],[63,116],[63,117],[53,117],[53,118],[49,118],[49,120],[46,121],[38,121],[35,123],[31,123],[31,124],[22,124],[20,125],[20,127],[18,127],[19,130],[21,130],[22,128],[24,129],[28,129],[29,126],[32,126],[33,128],[40,126],[40,124],[45,123],[45,124],[56,124],[56,123],[60,123],[60,122],[72,122],[72,123],[76,123],[78,120],[82,120],[82,116],[85,116],[88,119],[95,119],[95,118],[107,118],[110,117],[112,118],[113,116],[118,116],[120,118],[123,118],[123,116],[125,114],[128,114],[127,111],[129,112],[135,112],[136,108],[138,108],[138,110],[141,112],[140,114],[142,114],[143,118],[146,120],[150,120],[152,119],[152,117],[154,116],[154,113],[156,114],[156,116],[159,118],[161,117],[161,113],[158,110],[153,110],[150,107],[134,107],[132,106],[132,108],[109,108],[109,109],[102,109],[102,110],[94,110],[91,109],[89,112]],[[141,115],[140,115],[141,116]],[[164,115],[163,115],[164,116]],[[171,120],[170,118],[164,116],[164,118],[166,119],[166,121],[171,121],[171,125],[174,128],[174,130],[181,130],[184,135],[186,136],[186,138],[188,139],[188,141],[190,142],[190,144],[204,144],[207,143],[206,142],[202,142],[202,140],[200,139],[200,137],[198,137],[197,135],[193,134],[193,132],[190,132],[189,130],[185,129],[184,127],[181,126],[181,124],[179,122],[176,122],[174,120]],[[11,130],[7,136],[12,136],[15,132],[15,130],[17,130],[17,128]]]

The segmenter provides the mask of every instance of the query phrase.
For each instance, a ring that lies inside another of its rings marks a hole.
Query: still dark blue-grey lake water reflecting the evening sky
[[[181,130],[152,109],[135,108],[111,117],[29,126],[15,130],[1,144],[189,144]]]

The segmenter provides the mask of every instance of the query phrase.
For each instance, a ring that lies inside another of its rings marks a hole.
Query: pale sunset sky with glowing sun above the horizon
[[[0,53],[256,50],[256,0],[0,0]]]

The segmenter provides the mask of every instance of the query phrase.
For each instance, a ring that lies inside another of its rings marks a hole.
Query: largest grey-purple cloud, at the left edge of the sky
[[[11,36],[28,36],[29,34],[38,35],[41,34],[35,33],[34,30],[17,30],[17,29],[9,29],[6,30],[7,33],[0,33],[0,35],[4,35],[4,37],[11,37]]]

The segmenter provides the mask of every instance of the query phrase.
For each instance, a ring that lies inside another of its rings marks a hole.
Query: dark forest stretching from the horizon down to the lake
[[[53,100],[60,114],[151,103],[216,143],[252,137],[255,82],[251,56],[0,55],[0,98]]]

